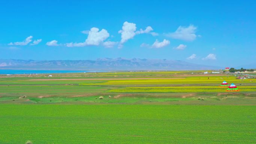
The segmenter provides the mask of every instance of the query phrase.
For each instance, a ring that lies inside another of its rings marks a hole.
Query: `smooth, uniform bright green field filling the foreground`
[[[0,143],[253,144],[256,106],[0,105]]]

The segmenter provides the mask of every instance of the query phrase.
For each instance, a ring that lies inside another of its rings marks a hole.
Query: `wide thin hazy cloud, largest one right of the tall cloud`
[[[180,39],[186,41],[193,41],[196,39],[196,27],[194,25],[189,25],[189,27],[179,26],[174,33],[165,34],[165,36],[171,37],[173,39]]]

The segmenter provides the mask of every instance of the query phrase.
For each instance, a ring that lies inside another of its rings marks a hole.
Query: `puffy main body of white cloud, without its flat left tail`
[[[91,28],[89,31],[88,37],[85,40],[86,45],[96,45],[98,46],[100,43],[102,43],[104,40],[106,40],[109,37],[109,33],[107,30],[102,29],[99,31],[98,28]]]

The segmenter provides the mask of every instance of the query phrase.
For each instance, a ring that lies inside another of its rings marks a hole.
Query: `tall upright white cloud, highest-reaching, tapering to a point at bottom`
[[[135,36],[136,24],[124,22],[122,30],[119,30],[118,33],[121,33],[121,44],[127,42],[127,40],[132,39]]]

